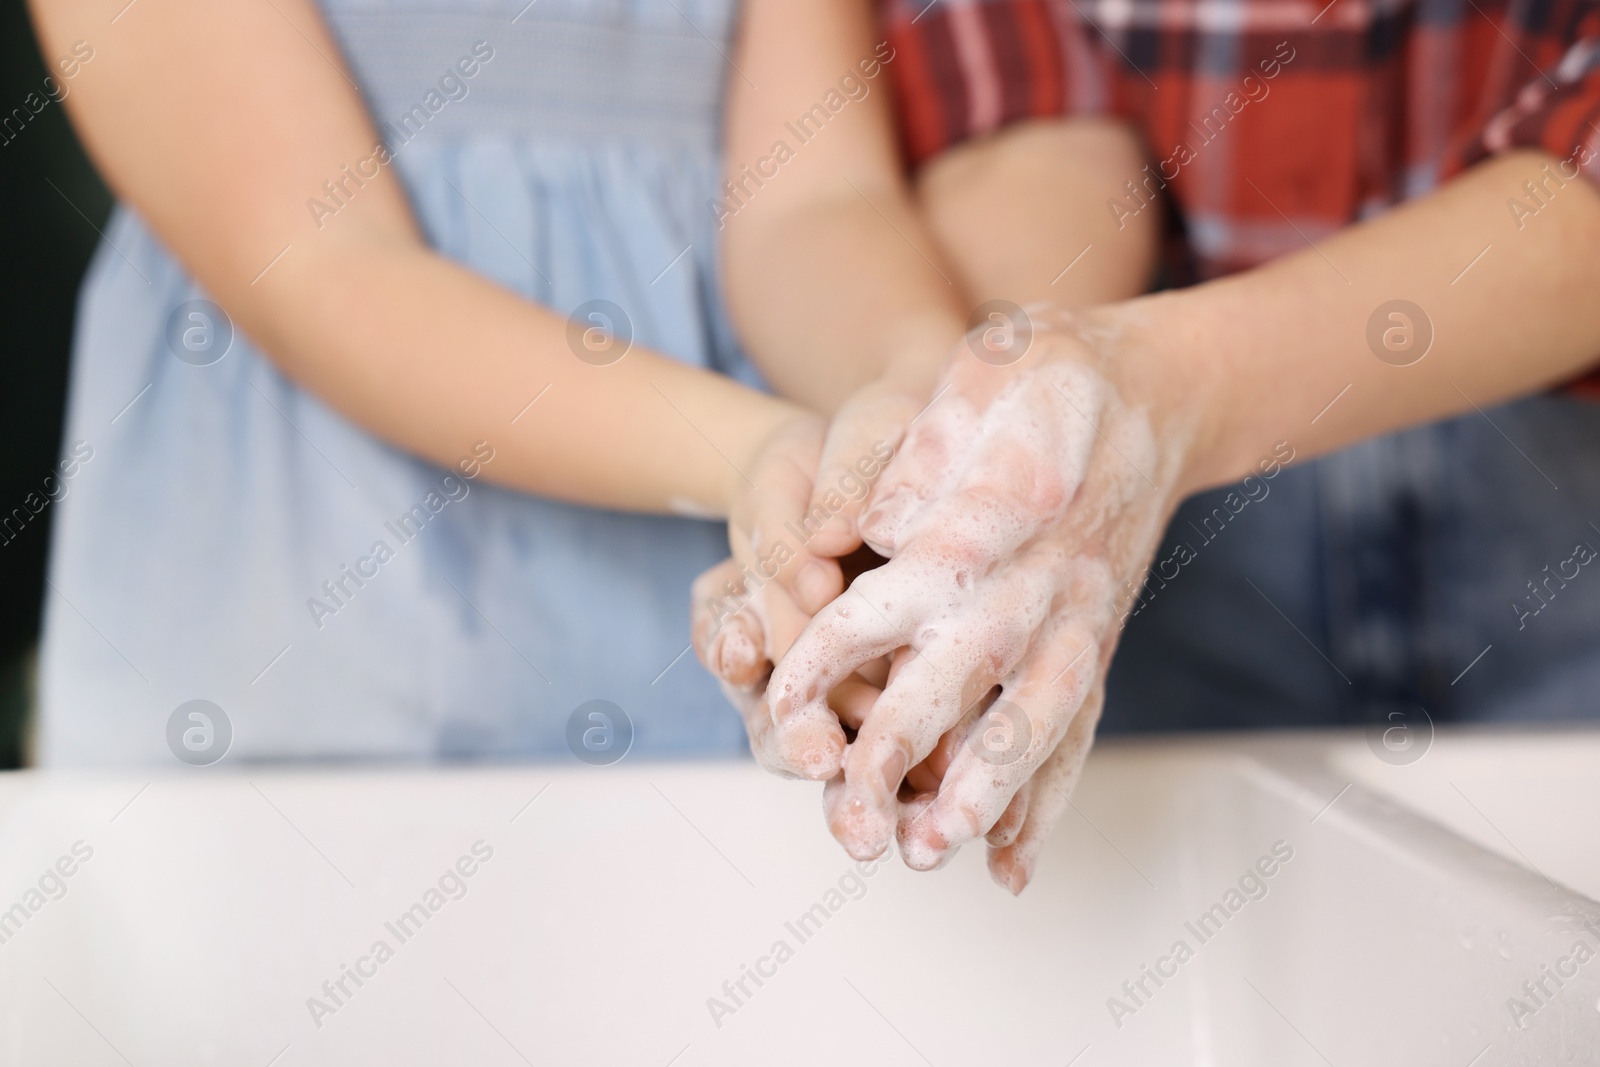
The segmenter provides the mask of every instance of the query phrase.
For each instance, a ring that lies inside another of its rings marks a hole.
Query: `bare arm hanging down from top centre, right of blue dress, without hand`
[[[778,392],[824,411],[891,368],[931,384],[966,328],[966,296],[894,152],[891,62],[862,0],[746,5],[739,66],[760,90],[730,80],[728,302]],[[827,93],[843,106],[802,141],[797,117]],[[781,165],[778,142],[790,150]]]

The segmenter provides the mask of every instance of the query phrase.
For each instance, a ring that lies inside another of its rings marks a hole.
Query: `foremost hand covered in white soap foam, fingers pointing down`
[[[771,731],[842,753],[813,776],[843,769],[826,801],[851,856],[880,856],[898,830],[906,862],[931,869],[987,835],[995,878],[1014,893],[1030,878],[1206,408],[1138,334],[1126,312],[1050,310],[1011,366],[958,347],[861,522],[890,561],[778,662]],[[890,654],[899,669],[846,750],[829,694]],[[902,798],[936,747],[938,792]]]

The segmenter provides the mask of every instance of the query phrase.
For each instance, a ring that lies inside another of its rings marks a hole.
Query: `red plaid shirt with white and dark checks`
[[[1165,190],[1174,282],[1514,147],[1600,181],[1600,0],[882,0],[880,18],[914,165],[1019,118],[1131,122],[1150,166],[1109,210]]]

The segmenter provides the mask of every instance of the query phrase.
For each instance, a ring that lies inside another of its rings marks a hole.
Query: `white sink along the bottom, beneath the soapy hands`
[[[858,878],[819,787],[742,763],[0,776],[0,909],[74,870],[0,912],[0,1064],[1592,1062],[1597,766],[1102,744],[1019,899],[973,848]]]

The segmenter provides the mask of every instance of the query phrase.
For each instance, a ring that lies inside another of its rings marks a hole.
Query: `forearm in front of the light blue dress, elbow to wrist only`
[[[488,440],[485,477],[541,496],[725,515],[757,445],[802,414],[637,346],[587,363],[565,318],[422,246],[312,245],[254,288],[229,306],[301,386],[435,462]]]

